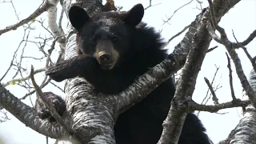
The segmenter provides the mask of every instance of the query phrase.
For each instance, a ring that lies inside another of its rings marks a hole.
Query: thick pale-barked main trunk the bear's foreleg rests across
[[[70,6],[75,4],[85,8],[90,15],[102,10],[102,3],[98,0],[88,1],[67,0],[63,2],[66,14]],[[69,25],[66,38],[65,58],[72,58],[75,53],[74,30]],[[82,78],[74,78],[66,85],[67,110],[74,120],[73,129],[78,140],[82,143],[115,143],[114,141],[114,107],[109,98],[97,98],[91,91],[92,87]]]

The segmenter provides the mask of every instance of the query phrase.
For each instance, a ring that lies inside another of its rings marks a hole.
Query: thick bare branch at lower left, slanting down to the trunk
[[[62,126],[38,118],[38,114],[33,108],[26,106],[26,104],[18,100],[18,98],[11,94],[9,90],[6,90],[2,84],[0,84],[0,106],[8,110],[10,114],[13,114],[20,122],[40,134],[49,136],[50,138],[69,139],[69,134],[65,132]],[[70,118],[66,117],[65,121],[69,126],[72,125]]]

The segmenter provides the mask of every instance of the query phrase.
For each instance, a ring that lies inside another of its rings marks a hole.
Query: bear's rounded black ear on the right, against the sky
[[[137,26],[142,21],[143,16],[144,7],[139,3],[126,12],[124,22],[130,26]]]

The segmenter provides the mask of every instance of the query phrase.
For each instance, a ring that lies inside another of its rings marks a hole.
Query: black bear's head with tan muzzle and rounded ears
[[[135,27],[142,21],[142,4],[133,6],[126,12],[102,12],[90,17],[80,6],[71,6],[70,23],[76,30],[78,50],[97,59],[104,70],[111,70],[122,62],[128,54]]]

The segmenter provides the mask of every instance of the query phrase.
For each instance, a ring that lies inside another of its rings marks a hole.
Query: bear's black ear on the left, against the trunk
[[[86,13],[86,10],[84,10],[80,6],[70,7],[69,18],[71,25],[78,31],[86,22],[89,22],[91,20],[89,15]]]

